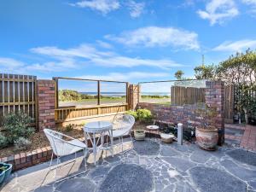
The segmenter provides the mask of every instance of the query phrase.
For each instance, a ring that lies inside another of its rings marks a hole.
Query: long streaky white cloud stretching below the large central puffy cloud
[[[72,63],[90,63],[105,67],[137,67],[150,66],[160,68],[182,67],[183,65],[167,59],[149,60],[137,57],[118,55],[114,52],[101,51],[95,47],[82,44],[71,49],[59,49],[56,47],[38,47],[31,49],[33,53],[48,55],[61,61],[74,60]]]

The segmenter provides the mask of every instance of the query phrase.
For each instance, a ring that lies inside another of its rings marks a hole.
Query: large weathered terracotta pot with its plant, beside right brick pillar
[[[202,149],[215,150],[218,143],[218,129],[212,125],[212,119],[217,116],[217,109],[206,106],[198,108],[196,113],[201,118],[201,125],[195,127],[196,143]]]

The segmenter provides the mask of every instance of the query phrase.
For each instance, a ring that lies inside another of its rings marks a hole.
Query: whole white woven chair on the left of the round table
[[[65,134],[62,134],[57,131],[49,130],[49,129],[44,129],[44,133],[46,137],[49,140],[50,146],[52,148],[52,155],[51,155],[51,160],[49,163],[49,170],[51,169],[51,164],[53,160],[53,154],[57,157],[57,167],[60,163],[60,158],[62,156],[66,156],[69,154],[75,154],[75,160],[77,158],[76,153],[79,152],[80,150],[84,150],[84,167],[86,170],[86,155],[87,155],[87,146],[85,143],[79,141],[79,139],[75,139],[73,137],[69,137]],[[64,140],[64,138],[67,138],[68,140]],[[56,167],[56,168],[57,168]],[[80,172],[79,174],[81,174]],[[72,177],[74,177],[73,175]],[[56,177],[55,177],[56,179]]]

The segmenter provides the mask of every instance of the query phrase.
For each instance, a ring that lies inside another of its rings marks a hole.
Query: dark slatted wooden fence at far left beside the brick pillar
[[[0,73],[0,127],[6,114],[20,111],[29,114],[37,125],[36,82],[36,76]]]

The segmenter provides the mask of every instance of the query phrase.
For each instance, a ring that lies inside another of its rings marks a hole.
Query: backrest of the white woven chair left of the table
[[[44,129],[44,133],[55,155],[64,156],[72,153],[74,146],[63,139],[66,135],[49,129]]]

